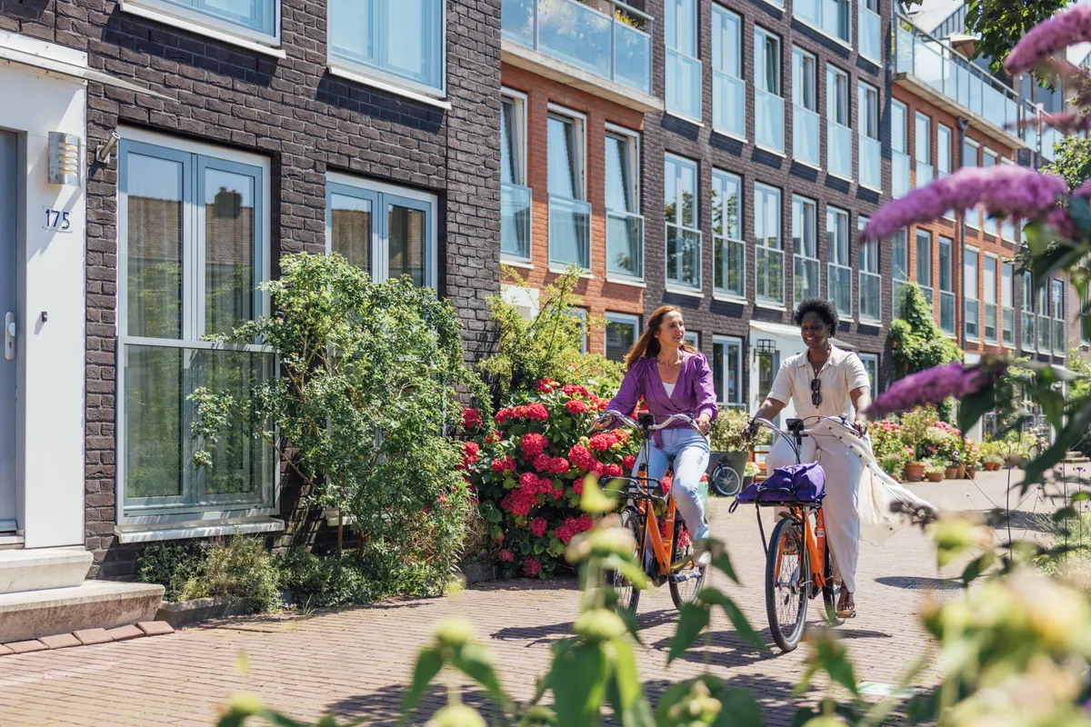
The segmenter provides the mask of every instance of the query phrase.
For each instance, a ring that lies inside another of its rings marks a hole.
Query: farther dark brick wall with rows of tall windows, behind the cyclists
[[[719,2],[719,0],[715,0]],[[784,313],[756,307],[754,301],[754,183],[763,182],[781,190],[782,211],[781,211],[781,237],[783,240],[786,274],[786,307],[793,305],[792,291],[794,281],[792,277],[792,194],[816,199],[818,202],[817,231],[819,239],[819,259],[822,265],[822,293],[826,295],[828,276],[826,265],[829,256],[826,250],[826,206],[834,205],[850,213],[850,265],[854,270],[853,278],[853,308],[859,306],[859,288],[855,271],[859,265],[859,243],[856,234],[858,216],[871,215],[878,208],[879,195],[866,189],[860,187],[856,183],[848,184],[832,177],[827,177],[825,171],[818,172],[808,167],[793,163],[791,160],[792,148],[792,47],[800,48],[813,53],[817,58],[818,75],[818,107],[820,123],[820,149],[822,160],[826,159],[826,63],[831,62],[850,76],[850,119],[853,129],[853,170],[858,167],[858,148],[855,144],[856,132],[856,82],[865,81],[879,90],[880,110],[880,138],[883,140],[883,189],[885,195],[883,201],[889,197],[890,190],[890,131],[889,131],[889,80],[884,66],[874,65],[867,60],[859,57],[856,50],[860,46],[855,43],[858,31],[856,3],[852,3],[852,27],[853,27],[853,50],[835,43],[825,35],[803,25],[796,20],[792,20],[791,0],[786,0],[783,10],[767,4],[764,0],[723,0],[719,2],[724,8],[735,12],[742,17],[742,44],[743,44],[743,78],[746,82],[746,138],[748,143],[740,143],[736,140],[723,136],[712,131],[712,40],[711,40],[711,13],[714,0],[703,0],[699,3],[699,58],[703,63],[703,98],[702,116],[703,126],[697,126],[687,121],[671,117],[669,114],[649,114],[645,122],[644,138],[644,199],[646,215],[646,239],[645,259],[646,275],[648,278],[648,289],[645,294],[645,312],[649,315],[662,303],[678,305],[685,312],[686,326],[690,330],[700,332],[700,346],[706,355],[712,353],[712,335],[740,336],[744,340],[750,334],[748,322],[753,319],[769,320],[774,323],[791,323],[790,310]],[[890,29],[890,2],[880,0],[880,16],[883,20],[883,33],[888,34]],[[663,5],[658,3],[651,11],[656,13],[656,39],[655,39],[655,62],[654,83],[656,94],[663,97],[664,92],[664,64],[666,49],[663,46],[663,24],[660,19],[663,16]],[[786,104],[784,118],[784,157],[777,157],[769,153],[756,149],[754,146],[754,26],[760,25],[765,29],[778,35],[781,39],[781,78],[782,96]],[[884,36],[885,37],[885,36]],[[884,47],[884,54],[889,54],[889,48]],[[698,196],[699,196],[699,220],[703,239],[704,263],[702,268],[703,298],[692,298],[687,295],[676,295],[664,292],[664,226],[662,217],[663,199],[663,154],[673,153],[682,157],[697,160],[698,170]],[[721,169],[732,172],[742,178],[743,181],[743,239],[746,241],[746,305],[723,303],[712,298],[712,247],[711,247],[711,179],[712,169]],[[859,173],[855,174],[859,179]],[[883,284],[883,320],[882,327],[861,326],[859,324],[848,324],[842,331],[838,332],[838,338],[842,338],[849,343],[859,347],[861,352],[879,354],[882,368],[880,378],[889,377],[889,349],[887,344],[887,324],[890,320],[890,247],[884,241],[880,244],[879,272],[884,277]],[[859,315],[853,315],[859,319]],[[744,348],[744,367],[753,362],[753,353],[748,344]],[[744,396],[750,401],[748,376]]]

